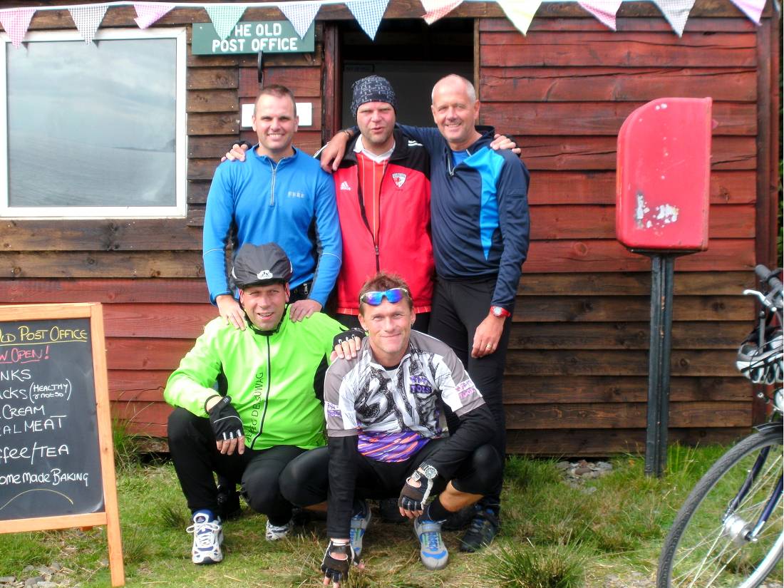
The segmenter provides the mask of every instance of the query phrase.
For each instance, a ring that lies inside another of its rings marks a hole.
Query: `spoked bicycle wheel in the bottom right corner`
[[[662,547],[657,588],[756,588],[779,567],[782,511],[779,497],[756,543],[734,543],[724,534],[724,513],[760,451],[769,448],[746,498],[734,513],[755,524],[782,476],[782,427],[739,441],[710,467],[688,495]]]

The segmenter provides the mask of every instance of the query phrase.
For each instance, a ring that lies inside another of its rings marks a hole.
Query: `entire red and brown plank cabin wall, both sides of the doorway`
[[[619,19],[621,32],[576,5],[543,5],[527,36],[495,4],[464,3],[452,13],[477,19],[483,122],[516,137],[532,174],[532,247],[504,382],[510,452],[643,448],[650,263],[615,241],[615,136],[627,114],[660,96],[713,96],[719,123],[710,248],[676,263],[670,435],[723,441],[753,419],[751,387],[734,358],[753,318],[741,292],[770,249],[760,245],[770,236],[760,231],[768,221],[759,209],[771,198],[757,195],[775,176],[778,62],[764,60],[778,49],[764,42],[767,34],[778,47],[778,36],[770,22],[757,30],[727,0],[699,0],[683,38],[652,5],[640,5],[643,16]],[[101,27],[136,27],[134,16],[132,7],[112,8]],[[387,16],[421,16],[421,4],[392,0]],[[281,16],[249,9],[244,18]],[[265,82],[314,103],[314,125],[295,139],[310,153],[321,143],[321,19],[349,18],[344,7],[322,7],[313,55],[265,60]],[[175,9],[156,26],[205,20],[203,9]],[[65,11],[36,13],[31,24],[64,28],[73,28]],[[187,218],[0,220],[0,303],[103,303],[113,413],[157,436],[169,414],[165,381],[216,316],[201,264],[205,201],[221,154],[239,138],[253,140],[239,127],[239,105],[258,89],[256,56],[189,49],[187,60]]]

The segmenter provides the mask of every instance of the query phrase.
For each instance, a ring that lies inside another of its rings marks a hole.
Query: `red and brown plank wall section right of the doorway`
[[[754,305],[760,60],[757,27],[665,20],[478,20],[482,122],[511,133],[531,172],[532,243],[518,290],[505,398],[512,452],[644,449],[650,267],[615,241],[615,142],[659,97],[713,97],[710,245],[675,263],[670,438],[728,441],[752,424],[735,369]],[[766,114],[767,115],[767,114]],[[764,143],[763,143],[764,144]],[[688,190],[688,187],[684,187]]]

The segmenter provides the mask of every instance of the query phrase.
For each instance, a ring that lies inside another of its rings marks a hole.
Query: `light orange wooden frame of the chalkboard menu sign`
[[[103,512],[2,521],[0,533],[92,527],[105,524],[109,546],[111,585],[125,586],[120,517],[117,503],[117,480],[114,476],[114,444],[112,442],[111,412],[109,409],[106,343],[103,334],[103,310],[101,305],[100,303],[70,303],[23,304],[12,307],[0,307],[0,321],[40,321],[59,318],[89,318],[90,321],[96,421],[103,486]]]

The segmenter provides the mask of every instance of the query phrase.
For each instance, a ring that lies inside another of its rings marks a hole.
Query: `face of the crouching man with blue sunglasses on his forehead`
[[[385,298],[377,307],[362,304],[360,310],[359,323],[368,332],[376,360],[387,368],[399,364],[408,349],[408,336],[416,319],[409,300],[390,303]]]

